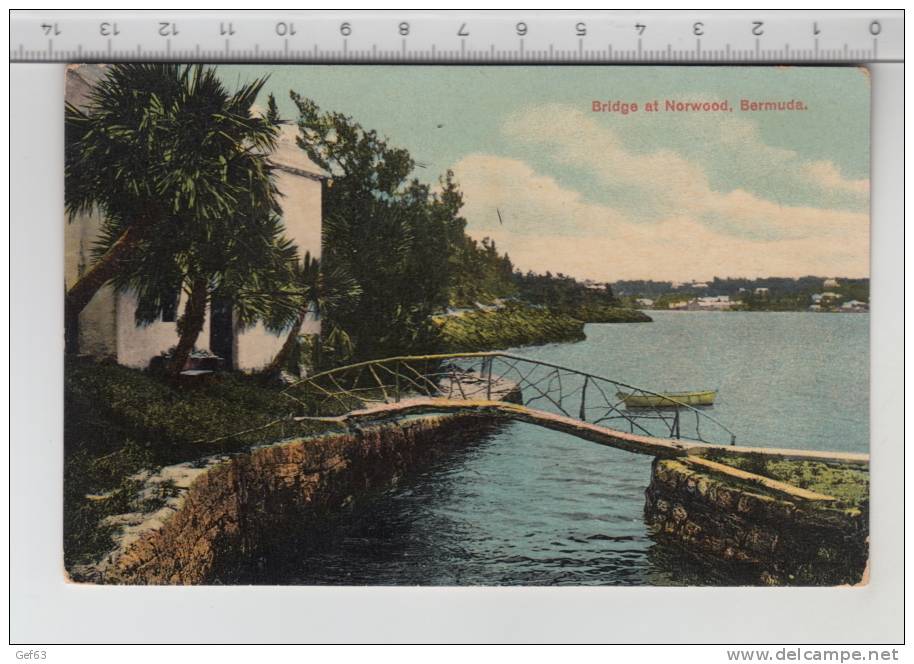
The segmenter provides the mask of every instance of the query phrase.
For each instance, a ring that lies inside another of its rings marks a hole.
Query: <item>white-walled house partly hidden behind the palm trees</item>
[[[67,68],[66,98],[76,106],[84,105],[94,81],[104,76],[102,65]],[[284,127],[279,147],[270,157],[278,173],[277,188],[286,235],[302,255],[321,252],[321,201],[325,174],[312,164],[294,142],[294,128]],[[65,224],[65,283],[69,288],[91,265],[92,247],[101,225],[100,215],[84,214]],[[110,358],[118,363],[145,368],[150,360],[178,342],[177,316],[183,307],[182,295],[173,312],[147,326],[135,322],[136,298],[132,293],[117,293],[104,286],[79,317],[79,353]],[[308,319],[302,334],[318,334],[320,321]],[[225,360],[226,366],[253,371],[266,366],[281,348],[284,335],[268,332],[263,325],[241,330],[231,302],[214,302],[207,311],[206,323],[197,349],[208,350]]]

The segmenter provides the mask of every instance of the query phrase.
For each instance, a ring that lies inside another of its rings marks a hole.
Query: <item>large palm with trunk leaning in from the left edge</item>
[[[251,112],[265,82],[229,93],[203,65],[119,64],[85,109],[67,104],[66,209],[71,221],[104,217],[96,260],[66,294],[69,352],[79,313],[139,247],[180,241],[242,209],[278,211],[267,163],[277,128]]]

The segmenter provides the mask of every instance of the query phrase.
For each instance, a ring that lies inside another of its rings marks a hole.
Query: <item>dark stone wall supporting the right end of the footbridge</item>
[[[865,582],[867,514],[772,495],[690,466],[655,459],[645,520],[661,542],[739,566],[745,582]]]

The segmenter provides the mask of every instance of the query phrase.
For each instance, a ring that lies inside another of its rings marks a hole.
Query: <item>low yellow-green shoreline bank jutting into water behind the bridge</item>
[[[439,316],[446,352],[470,352],[584,339],[584,324],[548,309],[512,306]]]

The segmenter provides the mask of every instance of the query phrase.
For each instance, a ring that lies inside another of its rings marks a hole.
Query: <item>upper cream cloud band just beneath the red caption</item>
[[[654,213],[690,206],[701,214],[703,208],[713,208],[718,191],[705,166],[711,161],[728,164],[730,174],[743,180],[741,186],[733,188],[757,195],[763,182],[774,187],[774,195],[805,182],[818,190],[809,193],[822,203],[848,202],[840,200],[841,194],[851,194],[852,207],[857,209],[867,202],[868,180],[844,179],[831,162],[804,162],[794,150],[767,145],[758,126],[747,119],[719,114],[664,118],[679,132],[695,135],[693,144],[701,147],[700,154],[689,158],[669,148],[645,145],[642,136],[650,137],[656,128],[645,124],[648,114],[641,116],[640,124],[618,118],[607,124],[600,115],[564,104],[547,104],[512,115],[504,123],[503,133],[519,144],[545,150],[563,167],[586,171],[588,177],[614,192],[632,190],[636,195],[623,198],[646,201],[639,208]],[[623,140],[622,132],[627,132],[627,140]],[[644,149],[632,149],[627,143]]]

